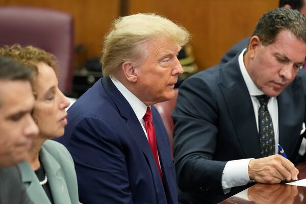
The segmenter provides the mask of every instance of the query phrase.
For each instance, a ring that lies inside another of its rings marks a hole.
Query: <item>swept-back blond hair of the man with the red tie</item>
[[[103,75],[114,75],[125,61],[135,60],[147,40],[167,39],[182,47],[189,32],[171,20],[153,13],[139,13],[116,19],[103,46]]]

